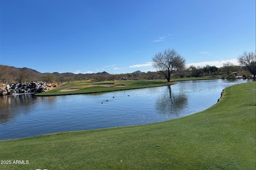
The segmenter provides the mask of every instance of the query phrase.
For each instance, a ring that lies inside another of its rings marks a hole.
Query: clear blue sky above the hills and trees
[[[256,46],[255,0],[0,0],[0,64],[40,72],[153,70],[175,49],[187,65],[236,64]]]

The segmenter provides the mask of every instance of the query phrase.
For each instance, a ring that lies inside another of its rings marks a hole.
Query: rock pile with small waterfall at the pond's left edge
[[[0,96],[16,94],[36,94],[50,90],[58,84],[46,84],[45,82],[30,82],[18,84],[0,84]]]

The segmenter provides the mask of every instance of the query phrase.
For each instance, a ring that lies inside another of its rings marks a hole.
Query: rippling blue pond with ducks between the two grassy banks
[[[252,81],[196,80],[97,94],[0,96],[0,140],[167,121],[216,104],[227,86]]]

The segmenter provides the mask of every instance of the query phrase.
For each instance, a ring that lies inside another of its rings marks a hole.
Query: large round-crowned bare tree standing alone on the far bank
[[[154,68],[165,76],[167,82],[170,82],[170,76],[173,71],[185,68],[185,59],[174,49],[166,49],[163,52],[159,52],[152,60]]]

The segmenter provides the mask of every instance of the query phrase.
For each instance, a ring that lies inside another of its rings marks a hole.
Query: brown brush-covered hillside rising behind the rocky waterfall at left
[[[46,81],[45,79],[50,78],[61,78],[63,79],[81,79],[88,76],[95,76],[95,75],[111,75],[108,72],[98,72],[98,73],[92,73],[92,74],[74,74],[72,72],[65,72],[65,73],[41,73],[37,70],[31,69],[31,68],[16,68],[14,66],[5,66],[0,65],[0,83],[1,82],[8,82],[8,83],[14,83],[14,82],[30,82],[30,81]]]

